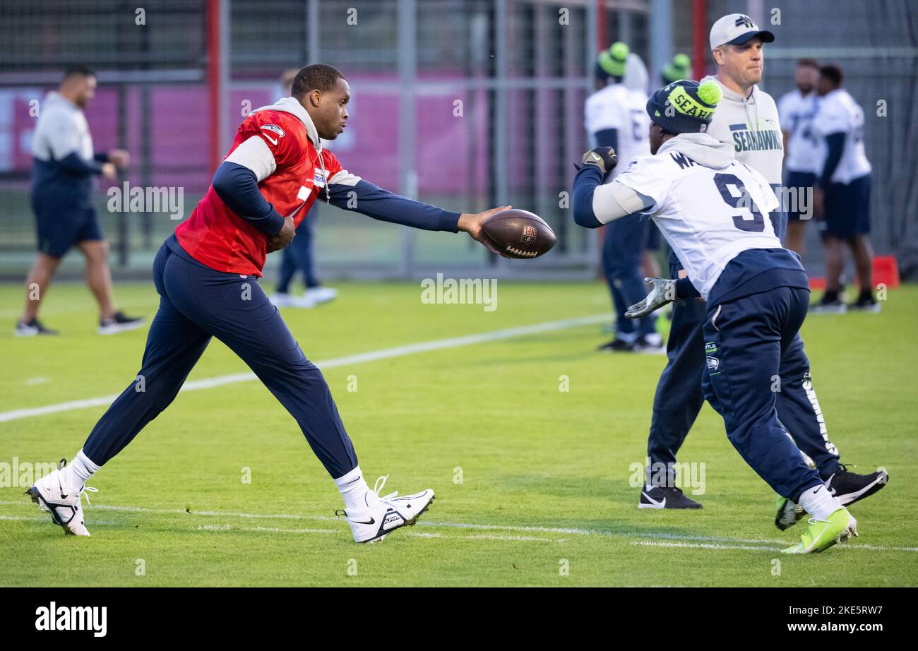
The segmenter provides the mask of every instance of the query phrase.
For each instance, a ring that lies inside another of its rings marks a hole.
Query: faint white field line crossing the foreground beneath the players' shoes
[[[0,506],[28,506],[28,501],[10,501],[10,500],[0,500]],[[203,517],[218,517],[218,518],[243,518],[250,520],[306,520],[306,521],[316,521],[316,522],[341,522],[344,521],[341,518],[326,516],[326,515],[300,515],[293,513],[242,513],[236,511],[185,511],[184,509],[150,509],[147,507],[140,506],[114,506],[114,505],[95,505],[84,507],[85,511],[120,511],[128,513],[152,513],[159,515],[198,515]],[[0,516],[0,519],[4,519],[3,516]],[[10,517],[8,519],[14,519]],[[101,524],[101,522],[96,522]],[[110,524],[111,522],[105,522]],[[92,526],[93,522],[90,522]],[[440,521],[429,521],[429,520],[420,520],[418,522],[420,527],[444,527],[448,529],[467,529],[474,531],[482,532],[508,532],[514,533],[515,537],[508,536],[506,538],[500,538],[500,540],[522,540],[525,536],[520,534],[524,533],[565,533],[568,535],[599,535],[605,536],[607,538],[643,538],[642,541],[636,541],[632,544],[644,544],[648,546],[666,546],[666,547],[694,547],[699,549],[753,549],[753,550],[767,550],[774,551],[784,549],[791,544],[797,542],[796,536],[792,537],[790,540],[776,540],[776,539],[743,539],[743,538],[730,538],[726,536],[707,536],[707,535],[689,535],[681,533],[664,533],[664,532],[648,532],[646,530],[635,530],[635,531],[602,531],[597,529],[577,529],[577,528],[565,528],[565,527],[540,527],[540,526],[521,526],[521,525],[509,525],[509,524],[474,524],[471,522],[440,522]],[[233,527],[233,525],[201,525],[198,529],[202,531],[248,531],[248,529],[239,527],[239,528],[227,528]],[[274,531],[274,529],[269,528],[251,528],[252,531]],[[287,532],[301,532],[301,533],[346,533],[346,529],[343,527],[340,530],[331,530],[331,529],[277,529],[276,531],[287,531]],[[415,535],[420,535],[421,533],[414,533]],[[488,534],[477,534],[481,537],[487,539]],[[423,537],[445,537],[442,534],[438,533],[423,533]],[[655,540],[646,540],[647,538],[654,538]],[[538,538],[538,540],[543,540],[545,542],[563,542],[562,540],[552,540],[549,538]],[[666,542],[667,541],[667,542]],[[780,546],[777,546],[780,545]],[[855,543],[845,543],[845,544],[836,544],[834,549],[849,549],[857,551],[868,551],[868,552],[918,552],[918,547],[890,547],[882,544],[855,544]]]

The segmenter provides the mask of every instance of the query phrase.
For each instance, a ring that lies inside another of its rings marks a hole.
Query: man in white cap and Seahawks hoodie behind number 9
[[[783,148],[778,120],[778,107],[770,95],[756,84],[761,81],[764,67],[763,44],[774,40],[771,32],[756,27],[742,14],[720,18],[711,27],[711,51],[717,62],[717,75],[705,81],[717,83],[722,101],[707,125],[707,133],[715,140],[732,146],[736,159],[765,176],[769,185],[781,183]],[[783,236],[786,218],[780,209],[769,214],[778,238]],[[670,277],[685,275],[679,261],[670,256]],[[664,284],[667,281],[656,281]],[[676,455],[689,434],[692,424],[704,404],[701,379],[705,368],[702,350],[703,325],[706,308],[693,300],[690,278],[676,283],[677,296],[682,300],[673,306],[673,320],[666,346],[668,361],[660,374],[654,397],[654,411],[647,441],[646,486],[641,490],[639,508],[698,509],[700,504],[686,497],[675,486]],[[633,314],[644,317],[654,294],[635,306]],[[662,303],[656,303],[658,307]],[[812,458],[819,474],[842,504],[864,499],[883,488],[885,471],[868,475],[850,472],[839,462],[838,451],[828,438],[819,400],[812,387],[810,361],[803,352],[799,336],[791,342],[795,354],[789,355],[781,371],[781,390],[777,395],[778,416],[800,450]],[[664,472],[655,472],[663,468]],[[801,512],[786,499],[778,500],[775,524],[786,529],[798,522]]]

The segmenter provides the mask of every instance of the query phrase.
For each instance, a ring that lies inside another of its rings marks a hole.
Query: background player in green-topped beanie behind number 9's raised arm
[[[623,84],[628,68],[628,46],[615,42],[599,54],[596,84],[599,90],[587,98],[585,126],[596,144],[616,149],[621,157],[650,152],[647,140],[646,92]],[[621,352],[663,352],[663,339],[656,332],[655,319],[648,316],[629,320],[624,316],[629,305],[644,296],[641,259],[650,229],[649,219],[634,215],[610,225],[602,242],[602,271],[609,284],[615,308],[615,338],[599,350]]]

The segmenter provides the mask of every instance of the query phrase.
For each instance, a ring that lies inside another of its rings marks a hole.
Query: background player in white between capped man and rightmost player
[[[778,116],[784,137],[784,185],[793,197],[787,208],[788,235],[784,245],[803,254],[806,221],[812,217],[807,201],[816,185],[816,173],[823,162],[822,139],[816,135],[812,120],[816,116],[816,82],[819,64],[815,59],[800,59],[794,70],[796,88],[778,99]]]

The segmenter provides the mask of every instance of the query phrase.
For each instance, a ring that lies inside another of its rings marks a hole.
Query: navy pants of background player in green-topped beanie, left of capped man
[[[625,318],[625,310],[647,295],[641,275],[641,256],[648,228],[656,227],[649,219],[636,213],[606,224],[602,241],[602,271],[612,294],[617,334],[636,331],[641,336],[656,331],[654,315],[638,320]]]

